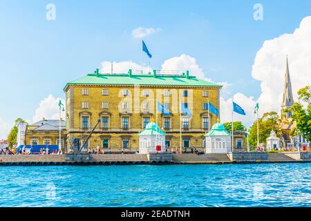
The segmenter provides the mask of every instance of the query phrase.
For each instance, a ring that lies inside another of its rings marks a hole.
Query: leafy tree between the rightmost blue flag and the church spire
[[[278,137],[281,137],[281,118],[276,112],[264,113],[263,117],[258,119],[258,123],[259,143],[265,144],[271,131],[274,131]],[[249,144],[250,146],[257,146],[257,121],[249,128]]]

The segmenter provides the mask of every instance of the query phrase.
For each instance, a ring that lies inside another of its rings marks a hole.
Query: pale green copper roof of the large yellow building
[[[202,79],[198,79],[189,75],[129,75],[129,74],[89,74],[85,77],[70,81],[68,85],[141,85],[141,86],[211,86],[221,87],[218,84],[211,83]]]

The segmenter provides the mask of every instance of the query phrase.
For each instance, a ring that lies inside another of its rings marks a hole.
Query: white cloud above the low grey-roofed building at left
[[[38,122],[42,118],[46,119],[59,119],[59,99],[62,101],[62,104],[65,104],[64,99],[53,95],[48,95],[48,97],[41,100],[39,106],[35,111],[35,116],[33,116],[33,122]],[[62,118],[65,119],[65,112],[62,111]]]

